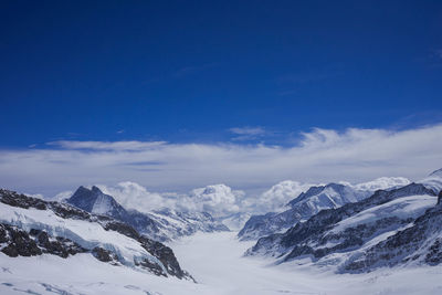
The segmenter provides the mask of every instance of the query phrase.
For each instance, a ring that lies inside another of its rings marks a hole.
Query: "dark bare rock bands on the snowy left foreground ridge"
[[[96,222],[106,231],[115,231],[138,241],[148,253],[157,257],[166,267],[165,272],[158,264],[154,265],[155,263],[151,262],[140,262],[139,265],[146,270],[162,276],[171,275],[178,278],[193,280],[190,274],[181,270],[170,247],[139,234],[138,231],[127,223],[105,215],[91,214],[65,203],[46,202],[9,190],[0,190],[0,202],[23,209],[51,210],[63,219],[80,219],[87,222]],[[92,253],[99,261],[119,265],[116,253],[103,247],[84,249],[63,236],[50,236],[42,230],[31,229],[27,232],[23,229],[2,223],[0,223],[0,247],[9,256],[32,256],[48,253],[67,257],[76,253]]]

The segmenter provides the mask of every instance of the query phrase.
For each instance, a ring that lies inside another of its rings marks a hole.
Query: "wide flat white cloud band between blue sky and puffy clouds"
[[[283,180],[362,182],[381,176],[421,179],[442,167],[442,125],[409,130],[314,129],[292,147],[164,141],[56,141],[0,150],[2,187],[53,196],[80,185],[127,180],[187,192],[225,183],[259,196]]]

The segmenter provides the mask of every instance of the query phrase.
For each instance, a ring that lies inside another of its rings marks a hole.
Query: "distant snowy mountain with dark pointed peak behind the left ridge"
[[[112,196],[103,193],[99,188],[80,187],[66,200],[67,203],[87,212],[108,215],[134,226],[137,231],[157,241],[171,241],[197,231],[229,231],[221,222],[207,212],[179,212],[176,210],[155,210],[143,213],[126,210]]]

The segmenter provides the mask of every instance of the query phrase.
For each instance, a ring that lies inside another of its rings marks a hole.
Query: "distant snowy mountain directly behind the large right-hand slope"
[[[313,186],[287,203],[283,212],[270,212],[253,215],[239,232],[240,240],[257,240],[261,236],[282,232],[298,222],[303,222],[324,209],[339,208],[371,196],[376,189],[387,189],[408,185],[404,178],[378,178],[370,182],[351,186],[350,183],[328,183]]]

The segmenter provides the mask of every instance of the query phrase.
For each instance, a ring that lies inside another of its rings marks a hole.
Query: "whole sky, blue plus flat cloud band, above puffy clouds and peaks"
[[[419,180],[442,167],[441,20],[441,1],[2,1],[0,187]]]

